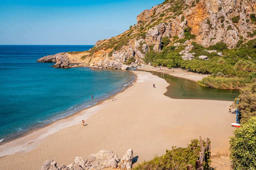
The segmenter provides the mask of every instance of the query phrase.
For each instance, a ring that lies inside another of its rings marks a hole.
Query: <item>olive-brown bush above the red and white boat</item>
[[[252,81],[255,81],[255,78]],[[244,89],[240,89],[240,95],[234,101],[232,107],[237,107],[241,110],[241,124],[246,123],[251,117],[256,116],[256,82],[247,84]]]

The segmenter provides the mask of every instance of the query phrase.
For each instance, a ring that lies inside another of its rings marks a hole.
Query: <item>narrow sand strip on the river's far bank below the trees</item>
[[[138,68],[138,70],[161,72],[161,73],[165,73],[165,74],[170,74],[175,77],[180,77],[180,78],[184,78],[187,80],[191,80],[194,82],[197,82],[198,80],[202,80],[203,77],[207,77],[209,75],[209,74],[194,73],[192,71],[187,71],[182,68],[168,69],[167,67],[164,67],[163,70],[160,70],[160,68],[141,67],[141,68]]]

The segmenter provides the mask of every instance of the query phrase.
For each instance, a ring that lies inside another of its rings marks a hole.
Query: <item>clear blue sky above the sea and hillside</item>
[[[1,0],[1,45],[94,45],[164,0]]]

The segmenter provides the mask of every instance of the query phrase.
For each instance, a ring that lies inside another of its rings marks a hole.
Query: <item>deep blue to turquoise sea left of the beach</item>
[[[126,70],[54,68],[37,59],[93,45],[0,45],[0,142],[90,107],[122,91]],[[93,95],[93,98],[92,98]]]

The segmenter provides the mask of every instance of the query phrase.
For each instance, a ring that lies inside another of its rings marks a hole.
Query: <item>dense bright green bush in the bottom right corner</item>
[[[236,128],[230,137],[230,158],[234,170],[256,169],[256,117]]]

